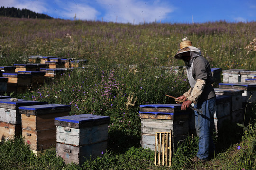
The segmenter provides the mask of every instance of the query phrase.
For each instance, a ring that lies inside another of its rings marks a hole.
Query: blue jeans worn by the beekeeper
[[[216,111],[216,97],[203,102],[197,102],[194,108],[202,110],[202,114],[195,111],[195,129],[199,137],[197,157],[205,160],[214,154],[215,146],[212,139],[214,130],[214,112]]]

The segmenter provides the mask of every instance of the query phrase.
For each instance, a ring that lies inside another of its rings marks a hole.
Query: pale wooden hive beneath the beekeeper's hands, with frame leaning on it
[[[189,135],[191,113],[181,110],[181,104],[140,105],[141,146],[155,150],[155,133],[172,131],[174,150]]]

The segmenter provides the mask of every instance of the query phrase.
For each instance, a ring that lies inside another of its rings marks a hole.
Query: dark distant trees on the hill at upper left
[[[50,17],[46,14],[40,14],[33,12],[28,9],[17,9],[14,7],[7,7],[4,8],[4,6],[0,8],[0,16],[5,16],[5,17],[17,17],[17,18],[33,18],[33,19],[52,19],[53,17]]]

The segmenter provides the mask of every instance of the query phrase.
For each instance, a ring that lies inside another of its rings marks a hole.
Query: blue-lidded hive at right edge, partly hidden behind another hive
[[[247,83],[247,82],[219,83],[219,88],[244,90],[244,93],[242,94],[242,102],[243,103],[256,102],[256,84],[255,83]]]

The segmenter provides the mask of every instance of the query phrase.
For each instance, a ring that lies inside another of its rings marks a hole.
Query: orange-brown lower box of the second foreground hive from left
[[[38,131],[22,129],[22,136],[32,150],[56,147],[56,128]]]

